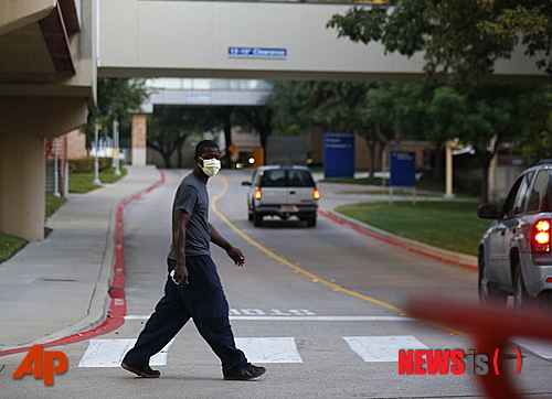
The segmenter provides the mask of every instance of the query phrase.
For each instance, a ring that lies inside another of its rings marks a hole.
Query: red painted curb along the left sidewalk
[[[161,180],[152,185],[151,187],[134,195],[132,197],[124,201],[117,207],[116,215],[116,233],[115,233],[115,265],[114,265],[114,274],[112,280],[112,285],[109,287],[109,296],[112,299],[109,304],[109,311],[107,312],[106,320],[95,328],[83,331],[77,334],[73,334],[56,341],[52,341],[45,344],[42,344],[44,347],[53,347],[61,345],[74,344],[81,341],[86,341],[94,338],[98,335],[104,335],[110,333],[112,331],[117,330],[125,323],[125,315],[127,312],[127,303],[125,296],[125,245],[124,245],[124,220],[123,213],[125,206],[130,204],[132,201],[142,197],[144,195],[152,192],[153,190],[160,187],[166,182],[166,176],[162,171],[159,171],[161,174]],[[0,357],[18,354],[21,352],[29,352],[31,346],[18,347],[13,349],[0,351]]]

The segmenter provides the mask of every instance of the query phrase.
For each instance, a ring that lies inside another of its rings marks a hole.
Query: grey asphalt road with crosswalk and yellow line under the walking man
[[[459,301],[476,298],[474,271],[403,251],[319,216],[316,228],[298,222],[247,220],[240,183],[247,172],[225,171],[210,181],[211,222],[246,257],[234,267],[213,248],[231,305],[234,335],[253,363],[267,367],[258,380],[224,381],[219,359],[189,323],[156,358],[159,379],[135,378],[117,367],[162,295],[170,242],[170,208],[188,171],[164,171],[167,183],[125,211],[127,321],[94,342],[57,349],[70,362],[45,387],[0,371],[6,398],[465,398],[479,397],[471,375],[399,375],[399,348],[468,351],[468,336],[404,315],[418,293]],[[322,192],[322,202],[323,202]],[[436,304],[438,305],[438,304]],[[123,349],[121,349],[123,348]],[[551,397],[552,363],[523,351],[517,376],[526,393]],[[2,358],[19,364],[24,355]],[[2,367],[0,364],[0,368]]]

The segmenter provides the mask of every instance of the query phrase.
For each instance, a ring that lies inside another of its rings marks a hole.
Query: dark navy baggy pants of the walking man
[[[169,273],[177,261],[168,259]],[[216,266],[210,256],[187,257],[188,281],[179,287],[168,277],[164,296],[149,317],[125,363],[135,367],[149,364],[190,320],[222,363],[224,375],[234,374],[247,362],[234,343],[229,321],[229,303],[222,289]]]

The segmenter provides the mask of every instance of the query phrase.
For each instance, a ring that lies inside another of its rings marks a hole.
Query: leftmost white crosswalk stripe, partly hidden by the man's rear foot
[[[120,367],[120,362],[126,353],[135,345],[134,339],[91,339],[88,348],[84,353],[78,367]],[[167,364],[167,353],[172,341],[153,355],[150,359],[150,366],[164,366]]]

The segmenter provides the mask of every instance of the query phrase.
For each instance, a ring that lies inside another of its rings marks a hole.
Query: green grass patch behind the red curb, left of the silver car
[[[477,217],[476,202],[378,202],[343,205],[336,211],[382,230],[443,249],[477,255],[490,222]]]

